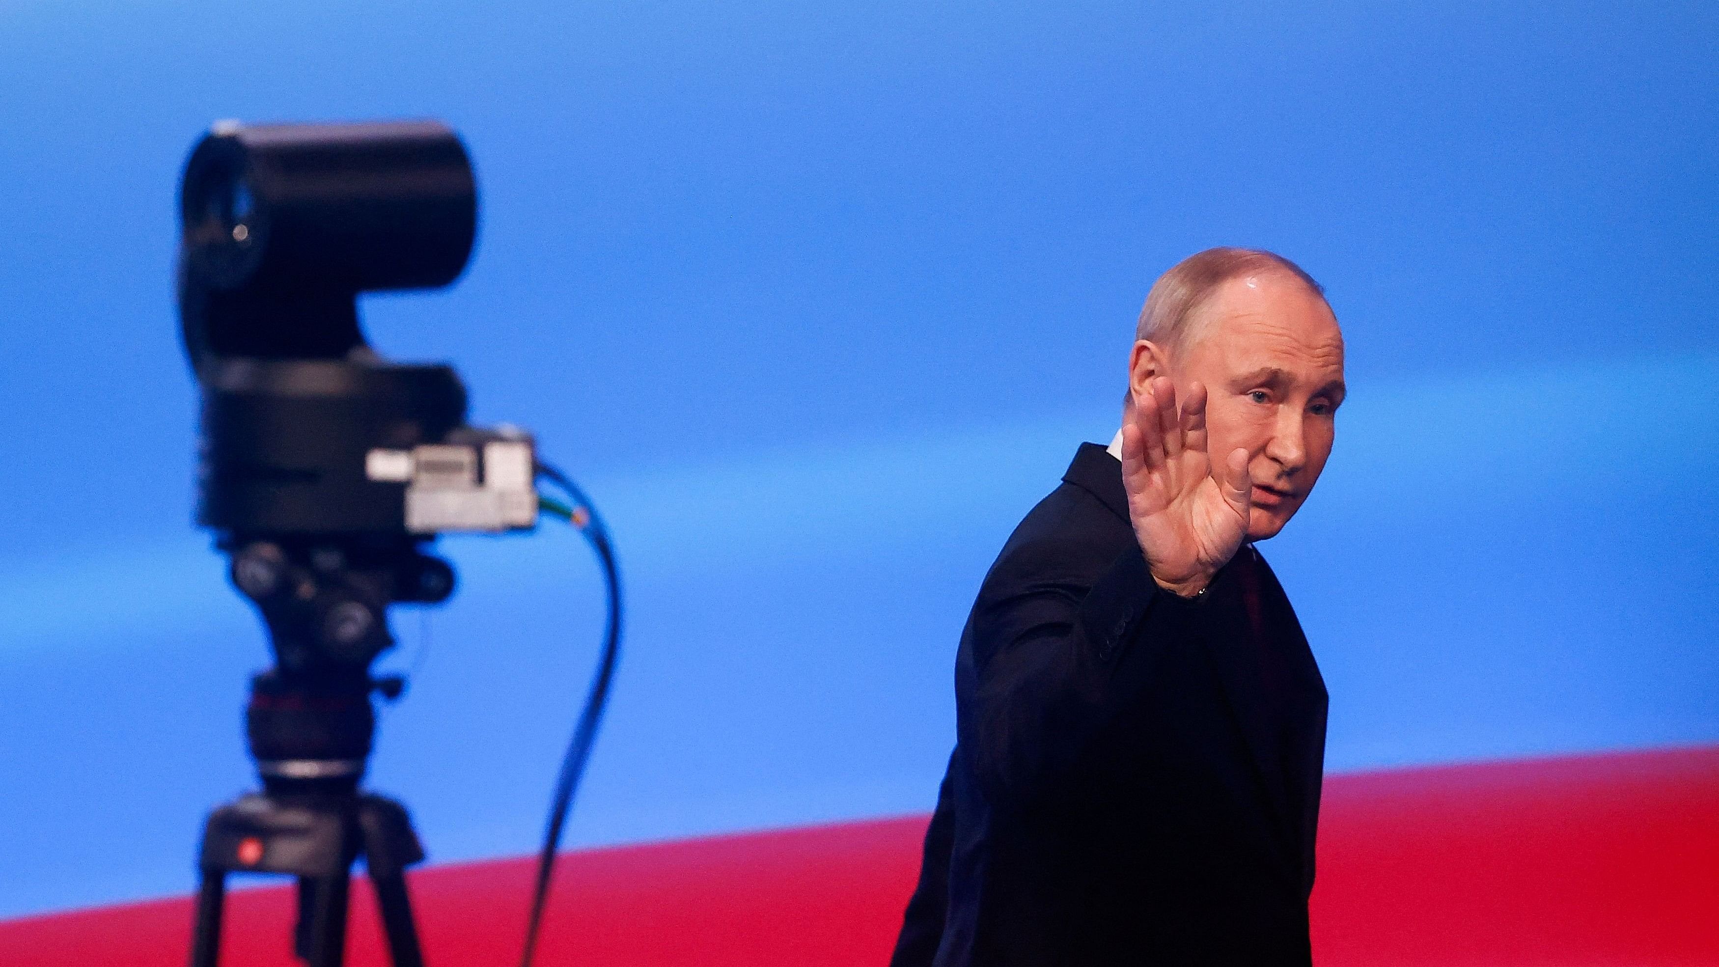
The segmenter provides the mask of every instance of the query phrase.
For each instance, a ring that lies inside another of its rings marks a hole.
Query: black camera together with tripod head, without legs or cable
[[[531,438],[466,424],[445,364],[385,361],[363,292],[452,283],[476,182],[438,122],[217,124],[180,182],[179,316],[201,390],[198,524],[275,666],[246,713],[265,785],[356,783],[387,608],[444,601],[447,531],[536,524]]]

